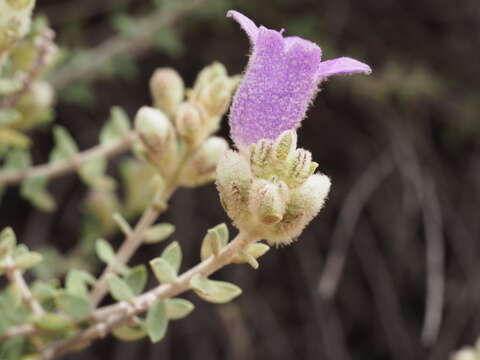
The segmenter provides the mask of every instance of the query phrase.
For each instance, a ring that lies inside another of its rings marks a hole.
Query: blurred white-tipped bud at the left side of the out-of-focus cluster
[[[178,156],[175,130],[166,115],[152,107],[140,108],[135,129],[144,145],[144,156],[163,176],[170,175]]]

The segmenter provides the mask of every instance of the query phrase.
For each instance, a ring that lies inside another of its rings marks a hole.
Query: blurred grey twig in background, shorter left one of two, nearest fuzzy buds
[[[328,253],[325,268],[320,276],[318,291],[324,299],[331,299],[336,292],[343,272],[345,258],[360,214],[368,199],[393,171],[391,158],[383,154],[365,169],[340,210],[333,230],[333,248]]]

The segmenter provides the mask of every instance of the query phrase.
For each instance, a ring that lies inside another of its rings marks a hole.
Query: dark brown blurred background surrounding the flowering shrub
[[[322,84],[300,144],[332,178],[327,206],[298,242],[254,271],[222,270],[242,287],[228,305],[204,303],[171,324],[164,341],[113,338],[66,359],[448,359],[480,335],[480,2],[478,0],[39,0],[74,63],[54,72],[56,123],[79,147],[97,144],[110,108],[133,116],[151,103],[148,80],[170,66],[191,85],[213,61],[242,72],[246,36],[228,9],[318,43],[325,59],[350,56],[370,76]],[[149,21],[132,41],[129,31]],[[228,136],[225,121],[221,129]],[[53,146],[33,133],[35,163]],[[111,175],[118,176],[111,162]],[[32,248],[75,248],[88,190],[76,175],[53,180],[46,213],[6,192],[1,226]],[[213,185],[179,190],[162,221],[185,266],[206,230],[228,222]],[[231,228],[232,232],[234,229]],[[111,237],[117,247],[121,237]],[[164,245],[142,248],[132,264]],[[67,267],[71,264],[67,264]],[[97,270],[98,271],[98,270]]]

